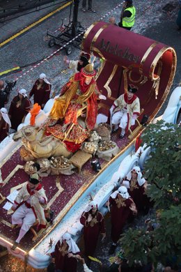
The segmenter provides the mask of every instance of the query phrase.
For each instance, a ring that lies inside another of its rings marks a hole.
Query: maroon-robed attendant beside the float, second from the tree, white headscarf
[[[120,186],[118,190],[111,194],[108,205],[111,206],[111,239],[113,241],[109,253],[113,254],[127,218],[131,213],[136,215],[137,211],[136,205],[125,186]]]

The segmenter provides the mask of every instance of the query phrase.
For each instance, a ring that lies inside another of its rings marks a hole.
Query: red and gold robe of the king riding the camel
[[[65,123],[77,123],[77,110],[86,105],[86,127],[92,130],[97,118],[98,89],[92,78],[90,84],[85,83],[85,77],[76,73],[61,89],[61,96],[54,102],[49,114],[52,119],[63,119]]]

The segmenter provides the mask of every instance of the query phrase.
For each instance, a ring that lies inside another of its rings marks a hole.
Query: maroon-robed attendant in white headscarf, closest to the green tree
[[[136,207],[139,211],[148,211],[149,198],[145,195],[147,188],[147,181],[143,178],[141,169],[139,166],[134,166],[132,170],[127,174],[123,186],[127,187],[129,195],[134,200]]]

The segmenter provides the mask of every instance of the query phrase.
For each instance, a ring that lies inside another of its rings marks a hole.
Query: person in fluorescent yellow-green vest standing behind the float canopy
[[[125,0],[123,4],[123,10],[120,14],[120,22],[118,23],[119,27],[123,29],[131,30],[134,26],[136,15],[136,8],[132,4],[132,0]]]

